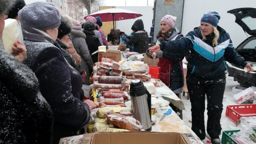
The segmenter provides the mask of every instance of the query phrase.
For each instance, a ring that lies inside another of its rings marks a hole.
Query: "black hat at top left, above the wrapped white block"
[[[18,11],[21,10],[26,5],[24,0],[14,0],[14,2],[9,7],[8,18],[15,19],[18,16]]]

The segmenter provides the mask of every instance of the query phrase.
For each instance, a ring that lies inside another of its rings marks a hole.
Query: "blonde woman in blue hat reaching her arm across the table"
[[[204,111],[207,95],[207,133],[212,144],[220,144],[220,118],[227,70],[225,60],[252,70],[251,65],[234,51],[229,34],[218,26],[219,20],[218,12],[210,11],[201,18],[200,27],[194,28],[185,37],[164,41],[149,50],[149,53],[163,51],[162,58],[166,59],[173,53],[190,52],[186,80],[191,102],[191,129],[201,140],[205,139]]]

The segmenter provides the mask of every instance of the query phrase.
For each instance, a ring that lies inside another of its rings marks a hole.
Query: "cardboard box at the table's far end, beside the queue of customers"
[[[121,51],[109,49],[106,52],[98,52],[98,62],[101,62],[102,58],[113,59],[115,62],[119,62],[121,60]]]

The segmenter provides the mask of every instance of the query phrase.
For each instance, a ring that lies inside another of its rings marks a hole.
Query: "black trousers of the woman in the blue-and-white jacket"
[[[225,83],[201,85],[187,81],[190,94],[192,130],[201,139],[205,139],[204,126],[205,95],[207,95],[207,133],[211,139],[219,138],[221,132],[220,118],[223,110]]]

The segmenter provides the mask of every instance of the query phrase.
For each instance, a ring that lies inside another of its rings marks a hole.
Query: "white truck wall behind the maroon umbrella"
[[[144,30],[148,32],[148,36],[149,36],[150,27],[152,25],[152,20],[153,20],[153,6],[116,6],[116,8],[134,11],[143,15],[141,17],[134,18],[134,19],[116,21],[116,30],[119,29],[121,32],[124,32],[127,35],[130,35],[130,33],[132,33],[131,28],[133,23],[136,20],[142,19],[144,24]]]

